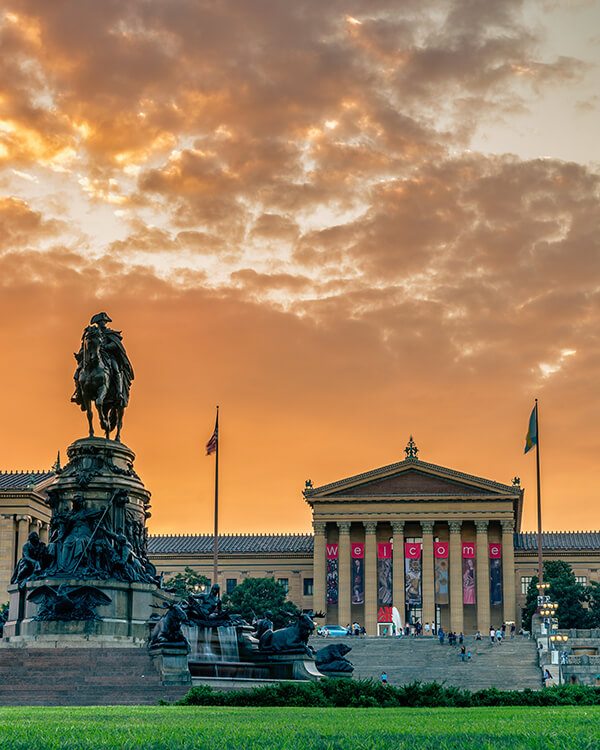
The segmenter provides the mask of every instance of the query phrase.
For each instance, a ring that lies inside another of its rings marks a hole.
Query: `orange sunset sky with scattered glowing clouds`
[[[0,467],[86,434],[105,310],[152,533],[310,530],[420,458],[600,528],[600,5],[4,0]]]

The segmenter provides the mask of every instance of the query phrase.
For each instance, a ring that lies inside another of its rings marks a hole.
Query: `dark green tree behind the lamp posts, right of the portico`
[[[538,580],[537,576],[533,576],[527,589],[524,620],[527,625],[531,623],[537,609]],[[550,597],[550,601],[558,604],[556,617],[559,627],[588,627],[589,613],[583,606],[588,594],[585,586],[577,583],[571,566],[564,560],[548,560],[544,563],[544,582],[550,584],[546,595]]]

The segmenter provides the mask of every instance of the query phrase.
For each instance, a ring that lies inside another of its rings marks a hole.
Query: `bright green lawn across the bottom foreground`
[[[582,750],[600,707],[0,708],[0,748]]]

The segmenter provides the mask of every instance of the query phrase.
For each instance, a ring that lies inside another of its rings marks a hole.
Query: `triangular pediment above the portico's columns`
[[[317,498],[338,497],[515,497],[519,493],[518,486],[510,487],[443,466],[407,460],[322,487],[309,488],[304,494],[310,502]]]

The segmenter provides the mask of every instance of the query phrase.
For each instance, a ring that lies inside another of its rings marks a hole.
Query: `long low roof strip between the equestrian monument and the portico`
[[[151,555],[212,554],[212,534],[161,534],[148,539]],[[223,534],[219,536],[219,553],[285,554],[313,551],[312,534]]]

